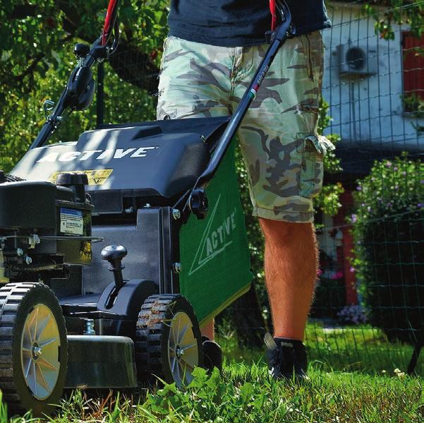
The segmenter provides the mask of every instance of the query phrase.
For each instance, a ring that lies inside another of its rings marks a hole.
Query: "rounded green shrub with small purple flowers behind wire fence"
[[[351,215],[359,292],[369,322],[389,340],[424,330],[424,163],[406,153],[375,162]]]

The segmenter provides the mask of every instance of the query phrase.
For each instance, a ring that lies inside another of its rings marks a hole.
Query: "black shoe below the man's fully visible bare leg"
[[[265,335],[269,374],[274,379],[308,380],[308,358],[301,340]]]

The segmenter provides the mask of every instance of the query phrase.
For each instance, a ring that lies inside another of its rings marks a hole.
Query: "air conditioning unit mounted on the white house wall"
[[[377,50],[361,45],[337,46],[340,76],[371,76],[377,74]]]

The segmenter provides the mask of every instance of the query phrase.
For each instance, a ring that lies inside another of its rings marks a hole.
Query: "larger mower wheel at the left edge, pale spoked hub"
[[[65,320],[54,292],[36,282],[1,287],[0,337],[0,389],[9,416],[51,414],[68,368]]]

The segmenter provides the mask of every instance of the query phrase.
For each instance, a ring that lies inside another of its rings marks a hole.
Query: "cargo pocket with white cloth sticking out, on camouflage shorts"
[[[299,195],[312,198],[320,193],[324,177],[324,156],[334,150],[334,145],[325,136],[306,136],[302,145],[302,162]]]

